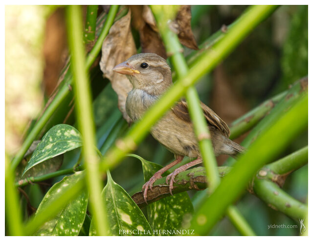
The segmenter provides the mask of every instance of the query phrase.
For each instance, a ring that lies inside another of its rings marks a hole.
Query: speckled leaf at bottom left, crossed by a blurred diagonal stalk
[[[36,215],[48,206],[67,185],[75,183],[81,178],[83,172],[76,172],[65,177],[62,181],[55,183],[45,194],[40,203]],[[85,220],[88,204],[88,192],[84,190],[77,198],[70,201],[60,212],[34,234],[35,236],[77,236]]]

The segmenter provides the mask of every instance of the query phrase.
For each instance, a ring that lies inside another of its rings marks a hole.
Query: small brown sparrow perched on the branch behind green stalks
[[[166,60],[153,53],[133,55],[116,65],[113,71],[126,75],[133,85],[126,99],[126,111],[133,121],[140,120],[145,111],[173,84],[170,66]],[[230,131],[227,124],[202,102],[201,108],[211,134],[215,156],[226,154],[235,157],[244,152],[244,147],[229,140]],[[186,100],[178,101],[156,122],[150,132],[158,142],[174,153],[175,161],[158,170],[143,185],[142,192],[146,203],[148,189],[152,190],[153,183],[162,178],[164,172],[181,162],[184,156],[196,159],[181,165],[166,177],[171,194],[176,175],[202,162]]]

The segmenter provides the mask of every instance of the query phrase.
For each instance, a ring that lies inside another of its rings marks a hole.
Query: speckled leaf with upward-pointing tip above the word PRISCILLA
[[[151,236],[153,231],[128,193],[112,180],[108,171],[108,182],[102,191],[105,199],[106,210],[110,227],[110,235],[113,236]],[[123,232],[124,231],[124,232]],[[89,236],[96,235],[96,230],[91,220]]]

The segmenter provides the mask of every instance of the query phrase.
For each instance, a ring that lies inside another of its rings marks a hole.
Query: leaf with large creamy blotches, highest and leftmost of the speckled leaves
[[[38,163],[73,150],[81,145],[81,135],[74,127],[66,124],[59,124],[52,127],[36,147],[22,176]]]

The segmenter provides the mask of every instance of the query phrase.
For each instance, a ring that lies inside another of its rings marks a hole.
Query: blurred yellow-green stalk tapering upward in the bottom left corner
[[[14,172],[10,168],[9,158],[5,155],[5,220],[10,236],[23,236],[22,212],[19,195],[14,186]]]

